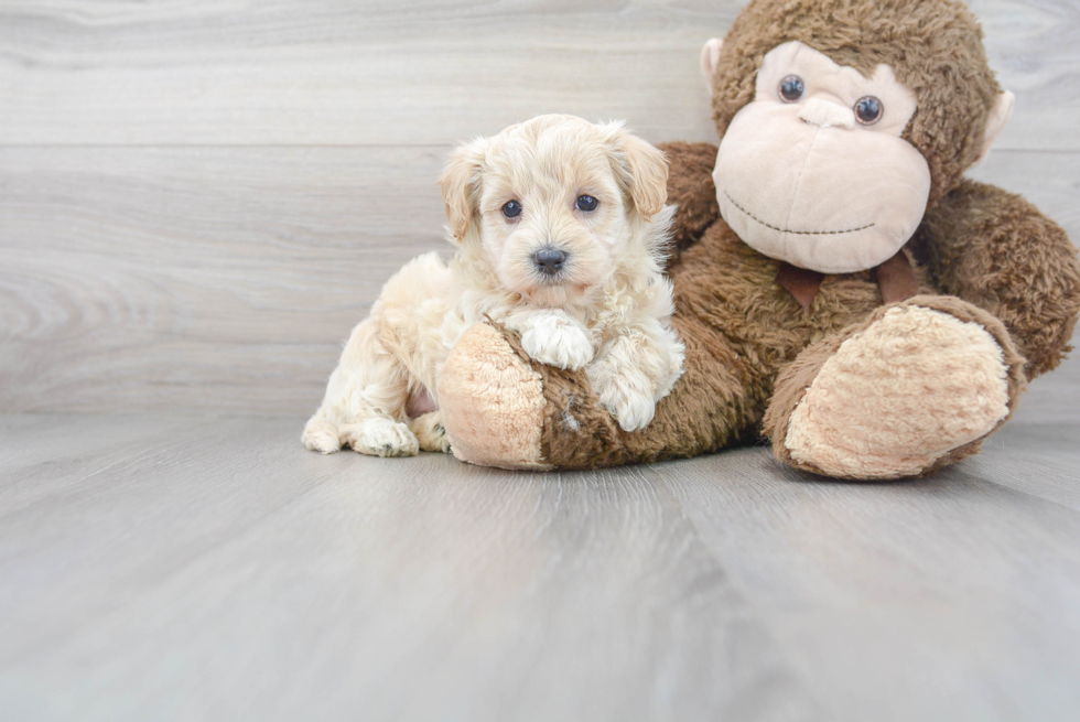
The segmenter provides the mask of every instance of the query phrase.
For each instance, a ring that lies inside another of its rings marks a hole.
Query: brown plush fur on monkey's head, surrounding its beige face
[[[979,159],[1001,87],[982,29],[960,0],[754,0],[736,18],[716,64],[713,117],[723,136],[754,99],[757,68],[777,45],[800,41],[867,77],[879,64],[915,94],[904,138],[930,165],[930,207]]]

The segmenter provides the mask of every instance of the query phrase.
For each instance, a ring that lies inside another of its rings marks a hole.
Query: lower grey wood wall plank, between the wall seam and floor
[[[447,152],[0,148],[0,410],[311,411],[382,282],[453,252]],[[974,175],[1080,237],[1080,154],[996,152]],[[1028,408],[1076,418],[1080,363]]]

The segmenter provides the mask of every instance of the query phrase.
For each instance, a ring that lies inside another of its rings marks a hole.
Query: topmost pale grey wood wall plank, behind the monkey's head
[[[541,112],[711,140],[735,0],[0,4],[4,144],[445,144]],[[1009,149],[1080,149],[1080,8],[973,0]]]

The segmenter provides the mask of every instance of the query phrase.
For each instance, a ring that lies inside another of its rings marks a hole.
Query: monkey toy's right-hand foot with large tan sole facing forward
[[[781,424],[770,409],[766,431],[781,460],[844,478],[915,476],[978,452],[1004,423],[1024,385],[1004,327],[957,299],[921,301],[878,310],[777,379],[774,406],[789,413]]]

